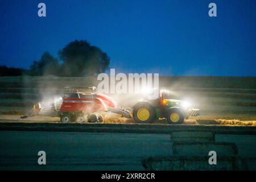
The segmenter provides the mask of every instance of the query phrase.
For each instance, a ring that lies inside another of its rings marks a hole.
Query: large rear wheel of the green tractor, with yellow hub
[[[151,123],[156,118],[155,108],[148,102],[138,102],[133,107],[133,119],[137,123]]]

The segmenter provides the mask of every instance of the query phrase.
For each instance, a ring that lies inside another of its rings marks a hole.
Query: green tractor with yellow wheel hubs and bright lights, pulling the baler
[[[189,116],[199,115],[199,109],[189,108],[185,101],[171,99],[166,89],[158,91],[155,100],[143,99],[133,107],[133,118],[137,123],[151,123],[158,118],[166,118],[170,124],[181,124]]]

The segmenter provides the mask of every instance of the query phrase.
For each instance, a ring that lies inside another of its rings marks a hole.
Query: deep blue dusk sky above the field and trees
[[[108,53],[117,72],[256,76],[256,1],[0,1],[0,65],[28,68],[75,39]]]

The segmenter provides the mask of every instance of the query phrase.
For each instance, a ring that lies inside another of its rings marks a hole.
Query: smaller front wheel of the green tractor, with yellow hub
[[[167,111],[167,122],[170,124],[181,124],[184,122],[184,114],[179,108],[170,108]]]

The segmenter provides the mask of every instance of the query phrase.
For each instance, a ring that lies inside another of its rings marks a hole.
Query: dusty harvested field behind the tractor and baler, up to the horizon
[[[255,77],[160,77],[160,86],[171,90],[174,98],[189,99],[201,115],[186,124],[249,125],[256,121]],[[36,102],[58,95],[64,86],[97,86],[96,77],[1,77],[1,118],[18,119]],[[134,94],[110,94],[120,106],[132,107],[139,99]],[[129,101],[129,102],[127,102]],[[44,117],[28,121],[43,121]],[[59,118],[47,118],[58,122]],[[133,119],[108,118],[105,123],[133,123]],[[158,121],[157,123],[166,123]]]

